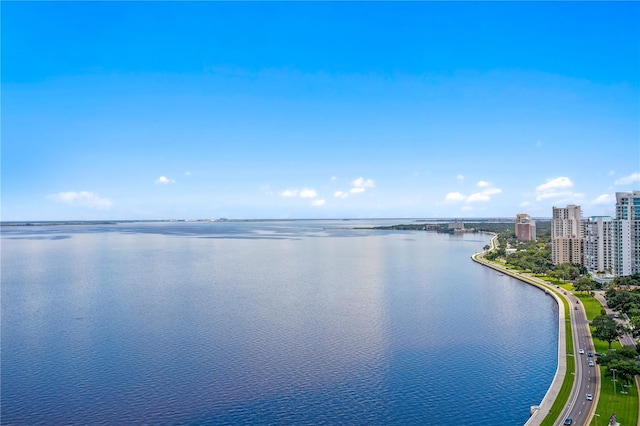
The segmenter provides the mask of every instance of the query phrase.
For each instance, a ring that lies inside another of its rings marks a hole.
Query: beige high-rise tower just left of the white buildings
[[[580,206],[553,207],[551,262],[584,264],[584,236]]]

